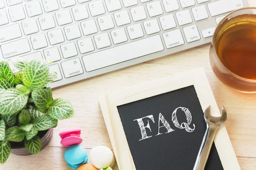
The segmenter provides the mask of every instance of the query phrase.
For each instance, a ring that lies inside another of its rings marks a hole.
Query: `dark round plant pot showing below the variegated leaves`
[[[41,150],[43,150],[47,144],[49,144],[50,140],[52,139],[52,131],[53,128],[50,128],[49,130],[39,131],[37,136],[41,138],[42,147]],[[23,142],[10,142],[12,150],[11,153],[14,153],[18,156],[29,156],[32,155],[24,146]]]

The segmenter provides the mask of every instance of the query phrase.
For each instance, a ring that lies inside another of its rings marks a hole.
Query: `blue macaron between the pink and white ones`
[[[67,161],[67,165],[73,169],[79,168],[82,164],[87,164],[88,155],[84,147],[81,145],[71,145],[64,153],[64,158]]]

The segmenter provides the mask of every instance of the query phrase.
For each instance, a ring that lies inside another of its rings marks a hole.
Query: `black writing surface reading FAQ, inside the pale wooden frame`
[[[193,169],[206,131],[204,112],[194,86],[131,102],[118,106],[117,109],[137,170]],[[174,113],[176,109],[177,112]],[[191,113],[192,120],[189,127],[190,131],[194,129],[192,132],[187,132],[182,127],[175,127],[172,121],[172,115],[176,114],[180,124],[188,123],[183,110]],[[147,117],[149,115],[152,115],[154,119]],[[169,125],[164,126],[163,123],[166,122],[161,121],[161,118],[159,120],[161,115],[164,117],[162,120],[166,120]],[[143,117],[144,126],[149,125],[145,128],[146,136],[148,136],[145,139],[142,139],[137,120]],[[172,130],[168,130],[169,127]],[[214,144],[205,170],[223,170]]]

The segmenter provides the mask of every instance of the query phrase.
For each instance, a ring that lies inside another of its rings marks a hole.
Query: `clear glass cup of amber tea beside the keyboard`
[[[241,8],[221,20],[209,51],[213,72],[225,85],[256,93],[256,8]]]

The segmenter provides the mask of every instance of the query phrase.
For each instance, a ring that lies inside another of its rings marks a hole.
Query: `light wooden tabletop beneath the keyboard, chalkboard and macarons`
[[[248,1],[256,6],[256,0]],[[71,170],[64,160],[66,148],[58,135],[61,130],[80,127],[81,145],[87,153],[98,145],[112,148],[99,95],[198,67],[206,70],[219,108],[224,105],[228,111],[226,127],[241,169],[256,170],[256,94],[242,94],[223,85],[212,72],[208,53],[209,44],[54,89],[54,98],[72,102],[75,116],[58,122],[51,142],[38,155],[11,154],[5,164],[0,164],[0,170]],[[116,164],[113,170],[118,170]]]

